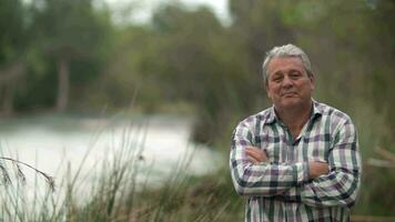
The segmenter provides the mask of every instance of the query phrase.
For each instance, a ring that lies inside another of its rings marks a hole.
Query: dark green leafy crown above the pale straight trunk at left
[[[92,0],[33,1],[32,7],[37,38],[53,57],[89,57],[107,38]]]

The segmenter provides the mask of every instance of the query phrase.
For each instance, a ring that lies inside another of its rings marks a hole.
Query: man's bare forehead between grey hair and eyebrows
[[[287,71],[287,70],[304,70],[304,64],[301,58],[298,57],[277,57],[273,58],[269,65],[267,72],[275,73],[278,71]]]

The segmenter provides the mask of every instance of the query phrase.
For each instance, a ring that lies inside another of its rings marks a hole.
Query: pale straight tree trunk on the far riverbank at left
[[[69,101],[69,61],[64,58],[58,64],[58,99],[57,111],[63,112]]]

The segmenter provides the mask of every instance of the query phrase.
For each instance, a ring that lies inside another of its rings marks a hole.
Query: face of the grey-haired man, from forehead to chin
[[[310,103],[314,77],[308,77],[298,57],[273,58],[267,65],[267,97],[276,109]]]

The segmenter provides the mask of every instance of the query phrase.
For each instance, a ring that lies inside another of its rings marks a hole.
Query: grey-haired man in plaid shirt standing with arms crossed
[[[263,62],[273,107],[233,133],[233,184],[245,221],[348,221],[361,158],[348,115],[312,99],[315,77],[297,47],[273,48]]]

